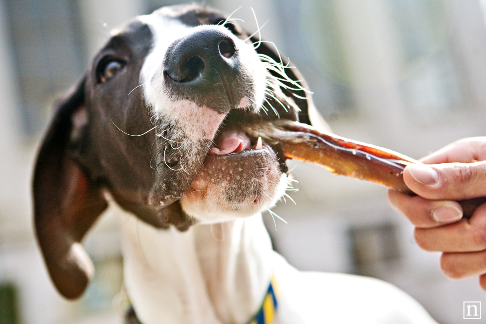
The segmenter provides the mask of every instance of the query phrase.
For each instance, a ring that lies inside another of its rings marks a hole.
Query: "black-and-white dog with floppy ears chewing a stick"
[[[325,127],[272,43],[204,6],[164,7],[113,32],[56,104],[33,192],[38,242],[69,299],[94,267],[81,240],[108,207],[122,231],[126,323],[433,323],[394,286],[299,272],[261,212],[285,193],[259,120]]]

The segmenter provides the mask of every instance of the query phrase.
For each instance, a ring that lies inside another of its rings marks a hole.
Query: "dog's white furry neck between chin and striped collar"
[[[272,275],[262,216],[158,230],[121,218],[124,278],[144,324],[241,323],[258,311]]]

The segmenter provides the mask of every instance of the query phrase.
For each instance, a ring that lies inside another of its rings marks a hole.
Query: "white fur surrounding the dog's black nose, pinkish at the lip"
[[[139,20],[149,26],[153,34],[153,47],[145,58],[140,71],[140,83],[147,103],[157,117],[177,124],[185,134],[183,137],[192,142],[212,139],[225,114],[220,114],[208,107],[199,107],[186,99],[169,98],[165,91],[163,61],[167,49],[176,40],[200,30],[201,26],[190,27],[177,19],[167,18],[160,13],[140,16]],[[207,28],[207,26],[205,26]],[[240,64],[252,77],[255,89],[254,98],[243,98],[238,108],[254,103],[260,108],[265,96],[266,69],[253,47],[231,34],[223,26],[214,26],[231,37],[239,52]]]

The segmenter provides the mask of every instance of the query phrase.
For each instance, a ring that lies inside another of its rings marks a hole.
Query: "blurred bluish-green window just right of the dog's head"
[[[354,108],[333,0],[272,0],[280,50],[299,68],[326,117]]]

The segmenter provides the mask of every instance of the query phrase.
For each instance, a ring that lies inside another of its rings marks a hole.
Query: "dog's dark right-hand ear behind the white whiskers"
[[[251,38],[252,43],[256,44],[259,43],[259,40],[254,36]],[[284,66],[292,67],[290,69],[285,69],[285,73],[287,76],[300,84],[302,88],[309,89],[307,86],[306,81],[300,74],[299,70],[290,63],[289,59],[279,55],[277,53],[276,48],[271,43],[260,42],[259,46],[256,49],[257,53],[264,54],[271,57],[277,63],[283,63]],[[274,73],[271,71],[271,73]],[[276,77],[279,77],[276,75]],[[290,96],[294,99],[296,105],[300,108],[299,112],[299,121],[301,123],[313,125],[319,130],[322,131],[329,131],[330,127],[318,112],[316,106],[314,106],[314,102],[312,101],[312,96],[309,92],[295,89],[295,86],[292,85],[288,81],[281,80],[282,83],[288,86],[288,89],[282,89],[282,92],[285,93],[287,96]]]

